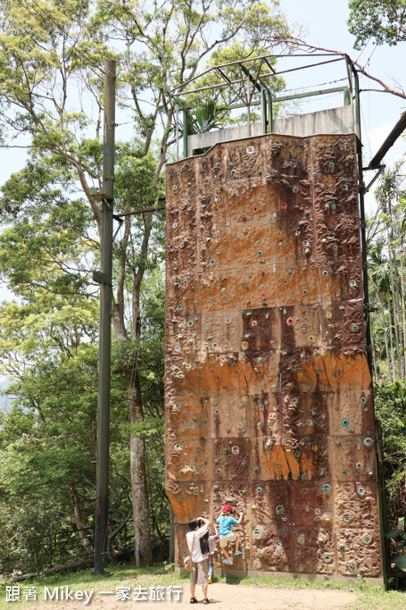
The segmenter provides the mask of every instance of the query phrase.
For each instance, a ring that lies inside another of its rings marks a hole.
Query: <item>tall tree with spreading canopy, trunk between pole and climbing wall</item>
[[[170,0],[163,4],[101,0],[96,11],[81,0],[63,0],[62,4],[57,0],[35,4],[1,0],[0,5],[7,14],[0,24],[0,127],[4,141],[19,146],[15,138],[20,133],[29,134],[30,146],[38,154],[60,159],[67,171],[70,168],[93,213],[93,240],[100,230],[100,208],[94,193],[101,189],[98,138],[103,60],[117,59],[120,105],[127,112],[126,120],[134,118],[137,135],[142,138],[141,149],[130,156],[131,163],[137,158],[139,165],[144,165],[148,181],[124,188],[126,196],[120,199],[118,193],[117,197],[118,212],[134,212],[153,206],[160,193],[162,166],[172,141],[170,88],[185,84],[213,50],[231,40],[239,40],[244,53],[252,53],[253,48],[261,47],[259,41],[266,32],[286,32],[277,4],[269,7],[255,0],[238,4],[232,0]],[[118,49],[109,46],[113,40]],[[93,108],[87,112],[92,101]],[[128,167],[127,175],[130,173]],[[127,216],[123,222],[115,247],[112,323],[123,355],[128,410],[135,430],[144,420],[145,408],[137,366],[140,295],[145,272],[157,259],[151,249],[157,223],[152,212],[130,219]],[[131,434],[130,455],[133,512],[137,515],[136,564],[142,565],[151,561],[142,437]]]

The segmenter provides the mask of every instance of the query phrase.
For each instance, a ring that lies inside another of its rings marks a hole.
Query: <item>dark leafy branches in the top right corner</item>
[[[377,45],[397,45],[406,40],[405,0],[350,0],[348,29],[360,49],[370,38]]]

